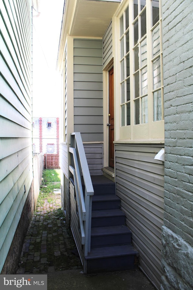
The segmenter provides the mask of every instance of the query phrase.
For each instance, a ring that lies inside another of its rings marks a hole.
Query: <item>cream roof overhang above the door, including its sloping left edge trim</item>
[[[66,0],[60,34],[57,66],[60,66],[67,34],[103,37],[121,0]]]

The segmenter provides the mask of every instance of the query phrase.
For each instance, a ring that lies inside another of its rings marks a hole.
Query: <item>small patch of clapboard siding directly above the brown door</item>
[[[103,36],[103,67],[112,59],[112,21]]]

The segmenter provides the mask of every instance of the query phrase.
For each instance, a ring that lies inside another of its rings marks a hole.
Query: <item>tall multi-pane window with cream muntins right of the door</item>
[[[121,126],[162,120],[159,0],[130,3],[120,18]]]

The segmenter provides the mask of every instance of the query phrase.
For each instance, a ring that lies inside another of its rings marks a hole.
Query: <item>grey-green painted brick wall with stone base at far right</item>
[[[163,0],[165,198],[161,289],[192,289],[193,5]],[[184,270],[186,269],[186,270]]]

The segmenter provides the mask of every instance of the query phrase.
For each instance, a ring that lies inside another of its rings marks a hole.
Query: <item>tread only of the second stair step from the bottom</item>
[[[130,234],[131,231],[125,225],[92,227],[91,236],[108,236],[113,234]]]

